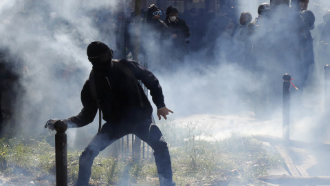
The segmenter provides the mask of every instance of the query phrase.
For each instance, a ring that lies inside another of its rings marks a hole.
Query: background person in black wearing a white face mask
[[[189,54],[188,39],[190,32],[186,21],[178,17],[179,11],[175,6],[169,6],[166,9],[166,19],[164,22],[170,28],[172,36],[172,47],[170,47],[170,56],[173,56],[173,61],[183,62],[184,56]]]

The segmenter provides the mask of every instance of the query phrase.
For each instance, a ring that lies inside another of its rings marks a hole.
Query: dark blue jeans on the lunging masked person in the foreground
[[[154,150],[153,156],[155,156],[160,185],[175,185],[172,179],[172,165],[167,143],[151,118],[145,118],[137,123],[105,123],[102,125],[101,132],[91,139],[80,156],[77,186],[88,185],[94,158],[111,143],[127,134],[135,134]]]

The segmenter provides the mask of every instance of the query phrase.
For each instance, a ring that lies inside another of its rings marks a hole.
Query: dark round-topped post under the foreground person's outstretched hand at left
[[[56,186],[67,186],[67,123],[57,121],[54,124],[55,158],[56,158]]]

